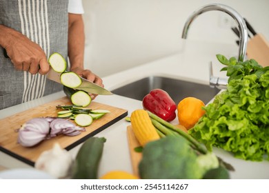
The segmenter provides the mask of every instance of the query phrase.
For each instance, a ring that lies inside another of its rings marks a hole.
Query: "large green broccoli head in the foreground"
[[[144,146],[139,175],[141,179],[201,179],[212,167],[199,162],[199,154],[186,139],[170,135]]]

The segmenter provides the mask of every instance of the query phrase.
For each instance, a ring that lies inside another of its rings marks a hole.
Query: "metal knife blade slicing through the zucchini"
[[[50,71],[47,74],[47,78],[55,81],[57,83],[61,83],[61,73],[55,72],[50,68]],[[76,90],[84,90],[86,92],[92,93],[92,94],[100,94],[100,95],[112,95],[113,93],[106,90],[106,88],[103,88],[96,83],[92,83],[91,81],[88,81],[87,79],[83,79],[81,77],[82,83],[79,85],[79,87],[75,88]]]

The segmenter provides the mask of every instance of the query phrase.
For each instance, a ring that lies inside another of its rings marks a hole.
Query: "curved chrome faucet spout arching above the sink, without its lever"
[[[206,6],[203,6],[199,8],[198,10],[196,10],[195,12],[193,12],[190,15],[190,17],[188,17],[185,23],[185,26],[182,32],[182,38],[183,39],[187,38],[188,30],[190,28],[190,24],[192,23],[192,21],[194,21],[194,19],[198,17],[199,14],[202,14],[203,12],[208,12],[210,10],[219,10],[221,12],[226,12],[233,19],[235,19],[238,25],[239,34],[240,34],[238,61],[243,61],[246,57],[246,48],[247,48],[247,43],[248,43],[248,31],[247,31],[246,23],[243,20],[243,17],[241,17],[241,15],[236,10],[234,10],[233,8],[230,8],[229,6],[226,6],[220,3],[212,3]]]

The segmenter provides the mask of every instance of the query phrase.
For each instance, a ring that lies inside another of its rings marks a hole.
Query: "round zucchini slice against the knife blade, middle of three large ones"
[[[60,78],[61,83],[69,88],[77,88],[82,83],[79,75],[74,72],[63,72]]]

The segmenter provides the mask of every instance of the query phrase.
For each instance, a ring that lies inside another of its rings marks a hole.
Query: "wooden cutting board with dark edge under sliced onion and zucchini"
[[[120,119],[123,119],[123,117],[128,114],[127,110],[92,101],[88,108],[91,108],[92,110],[109,110],[110,113],[105,114],[100,119],[94,120],[91,125],[86,127],[85,132],[81,132],[81,134],[77,136],[59,135],[52,139],[42,141],[31,148],[25,148],[17,143],[18,132],[16,132],[16,130],[21,128],[23,123],[26,123],[26,121],[35,117],[57,116],[57,112],[60,110],[57,109],[56,106],[69,104],[71,104],[70,100],[67,97],[63,97],[57,101],[52,101],[36,108],[31,108],[24,112],[8,116],[5,119],[1,119],[0,150],[10,154],[16,159],[28,163],[29,165],[34,165],[34,162],[38,159],[39,155],[45,150],[50,150],[54,143],[59,143],[61,148],[70,150],[83,141],[86,141],[90,136],[94,136]]]

